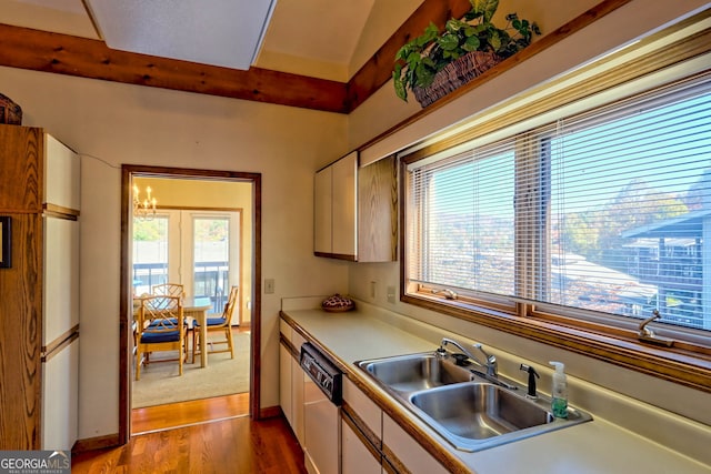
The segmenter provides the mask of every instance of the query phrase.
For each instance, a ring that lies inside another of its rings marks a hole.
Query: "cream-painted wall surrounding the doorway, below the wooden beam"
[[[82,154],[80,428],[118,432],[120,164],[262,174],[263,407],[279,404],[282,296],[344,292],[348,268],[313,256],[313,172],[346,150],[347,118],[0,68],[0,90]],[[50,177],[51,179],[51,177]]]

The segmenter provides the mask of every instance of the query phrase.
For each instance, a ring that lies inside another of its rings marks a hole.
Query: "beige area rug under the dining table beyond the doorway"
[[[234,359],[230,359],[229,352],[208,354],[208,366],[202,369],[198,355],[194,364],[183,364],[182,376],[178,375],[177,361],[158,362],[161,359],[176,359],[177,352],[152,354],[151,363],[141,367],[141,380],[137,381],[136,374],[131,374],[131,406],[142,409],[249,392],[250,333],[234,333],[232,341]],[[220,347],[224,347],[224,344]]]

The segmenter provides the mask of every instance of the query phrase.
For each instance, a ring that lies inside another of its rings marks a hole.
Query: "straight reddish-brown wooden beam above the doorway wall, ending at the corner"
[[[136,54],[103,41],[0,24],[0,65],[348,113],[342,82]]]

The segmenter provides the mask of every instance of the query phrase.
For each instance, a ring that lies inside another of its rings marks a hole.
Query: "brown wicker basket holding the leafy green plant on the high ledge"
[[[420,105],[428,107],[453,90],[459,89],[482,72],[501,62],[501,58],[492,52],[472,51],[450,62],[434,75],[427,88],[412,88],[412,93]]]

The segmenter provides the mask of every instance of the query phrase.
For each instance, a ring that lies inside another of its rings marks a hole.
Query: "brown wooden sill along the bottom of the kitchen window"
[[[583,326],[564,316],[522,317],[411,294],[401,301],[711,393],[709,347],[680,342],[662,347],[638,341],[631,331],[590,323]]]

